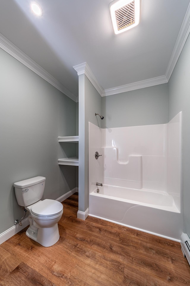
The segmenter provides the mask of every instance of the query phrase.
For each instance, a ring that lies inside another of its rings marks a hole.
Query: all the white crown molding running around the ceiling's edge
[[[181,29],[178,34],[178,38],[176,40],[169,64],[166,69],[166,74],[164,76],[154,77],[147,80],[138,81],[135,83],[129,83],[123,86],[117,86],[114,88],[108,88],[103,90],[102,86],[99,84],[98,80],[94,76],[88,64],[81,63],[77,66],[73,66],[75,71],[77,71],[78,75],[85,74],[87,78],[90,80],[92,85],[96,88],[98,93],[104,97],[108,95],[118,94],[126,91],[132,91],[135,89],[145,88],[149,86],[155,86],[163,83],[167,83],[171,77],[171,74],[175,68],[175,65],[178,61],[178,58],[181,54],[183,46],[188,38],[190,32],[190,4],[187,8],[185,17],[183,19],[183,23],[181,25]],[[51,76],[45,69],[39,66],[34,60],[32,60],[29,56],[27,56],[24,52],[22,52],[17,46],[15,46],[11,41],[9,41],[6,37],[4,37],[0,33],[0,48],[7,52],[9,55],[14,57],[20,63],[34,71],[37,75],[42,77],[52,86],[57,88],[59,91],[64,93],[67,97],[78,102],[78,97],[72,94],[66,87],[64,87],[58,80],[56,80],[53,76]]]

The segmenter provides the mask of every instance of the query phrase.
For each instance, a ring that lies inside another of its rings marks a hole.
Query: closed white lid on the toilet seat
[[[31,213],[39,216],[53,216],[58,215],[63,210],[62,203],[57,200],[42,200],[41,202],[35,204],[31,207]]]

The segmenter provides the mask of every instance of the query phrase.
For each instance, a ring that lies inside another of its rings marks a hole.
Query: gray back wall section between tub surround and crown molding
[[[102,115],[102,128],[167,123],[167,83],[102,97]]]

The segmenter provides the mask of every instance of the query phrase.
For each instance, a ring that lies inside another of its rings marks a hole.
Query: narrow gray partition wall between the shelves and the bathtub
[[[79,76],[79,211],[88,208],[88,122],[101,127],[102,98],[88,78]]]

